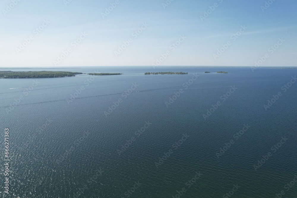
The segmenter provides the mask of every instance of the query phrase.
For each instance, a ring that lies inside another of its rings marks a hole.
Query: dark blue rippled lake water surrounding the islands
[[[124,75],[0,79],[3,197],[297,197],[295,69],[42,70]]]

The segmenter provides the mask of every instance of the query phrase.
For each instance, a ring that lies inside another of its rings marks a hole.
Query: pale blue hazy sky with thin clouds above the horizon
[[[296,66],[296,0],[2,0],[0,67]]]

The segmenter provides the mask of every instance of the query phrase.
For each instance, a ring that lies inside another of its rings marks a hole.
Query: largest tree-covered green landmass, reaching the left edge
[[[51,72],[51,71],[34,71],[34,72],[12,72],[12,71],[0,71],[0,78],[58,78],[58,77],[70,77],[77,74],[83,74],[81,72]]]

